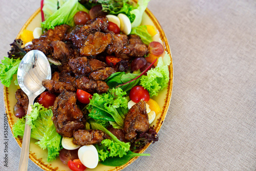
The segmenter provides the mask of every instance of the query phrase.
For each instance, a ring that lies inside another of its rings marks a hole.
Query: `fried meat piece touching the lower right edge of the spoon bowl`
[[[60,93],[61,92],[60,88],[63,88],[65,90],[69,91],[69,92],[75,92],[76,91],[76,88],[74,86],[72,86],[71,83],[60,82],[60,81],[49,80],[49,79],[43,80],[42,81],[42,86],[44,86],[51,93]]]

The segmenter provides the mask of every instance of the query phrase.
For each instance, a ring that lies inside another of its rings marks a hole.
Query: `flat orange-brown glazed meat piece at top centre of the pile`
[[[87,36],[84,45],[80,48],[80,54],[83,56],[94,56],[103,52],[112,42],[110,33],[96,32]]]

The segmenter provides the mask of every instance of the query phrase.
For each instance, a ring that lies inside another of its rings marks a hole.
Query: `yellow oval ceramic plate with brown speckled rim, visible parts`
[[[34,28],[40,27],[40,22],[41,22],[41,13],[40,9],[38,9],[25,23],[23,28],[20,30],[19,34],[17,35],[16,38],[20,38],[20,34],[23,32],[24,29],[31,30],[33,31]],[[154,41],[160,41],[162,42],[165,51],[170,54],[170,48],[168,45],[168,41],[166,39],[166,36],[158,23],[157,19],[155,16],[150,12],[150,10],[146,9],[144,14],[143,14],[143,19],[141,25],[152,25],[155,27],[157,30],[157,34],[153,37]],[[171,54],[170,54],[171,55]],[[159,93],[157,97],[154,99],[158,102],[160,105],[161,111],[156,115],[156,119],[151,125],[155,125],[156,132],[158,133],[160,130],[161,125],[163,124],[163,121],[165,119],[169,102],[170,102],[170,97],[172,95],[172,89],[173,89],[173,63],[172,63],[172,56],[171,56],[171,63],[169,65],[169,84],[168,87],[165,88],[163,91]],[[9,88],[4,87],[4,100],[5,100],[5,107],[6,107],[6,113],[8,114],[8,122],[10,125],[10,129],[12,131],[13,124],[16,122],[17,118],[13,114],[13,106],[17,102],[14,96],[14,93],[18,89],[17,86],[14,84],[11,84]],[[22,139],[16,138],[16,141],[18,145],[21,147],[22,146]],[[38,145],[35,145],[35,142],[37,140],[34,140],[33,138],[30,141],[30,154],[29,158],[37,164],[40,168],[44,170],[69,170],[68,165],[63,164],[59,158],[57,160],[54,160],[52,162],[47,162],[47,150],[43,151]],[[139,153],[143,153],[146,148],[150,144],[147,144],[143,149],[139,151]],[[129,162],[126,164],[119,166],[119,167],[111,167],[111,166],[105,166],[102,164],[98,164],[98,166],[94,169],[89,169],[87,168],[86,170],[121,170],[124,167],[128,166],[131,164],[133,161],[135,161],[138,157],[132,158]]]

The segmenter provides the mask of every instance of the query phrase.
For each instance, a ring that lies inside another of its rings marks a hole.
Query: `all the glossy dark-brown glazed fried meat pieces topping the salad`
[[[83,130],[86,118],[77,106],[76,90],[81,89],[92,95],[107,92],[109,86],[105,79],[117,71],[127,71],[131,59],[148,53],[147,46],[139,36],[114,34],[107,29],[108,25],[108,18],[103,16],[72,28],[56,26],[33,39],[33,45],[24,48],[26,52],[40,50],[61,64],[53,69],[52,79],[44,80],[42,85],[57,95],[52,108],[57,133],[65,137],[73,137],[74,134],[74,143],[79,145],[100,143],[109,137],[99,130]],[[116,67],[108,66],[105,63],[106,55],[114,55],[122,60]],[[15,96],[17,104],[26,111],[27,96],[21,90]],[[132,141],[137,133],[147,131],[148,127],[145,102],[141,101],[127,114],[124,131],[111,131],[122,141]]]

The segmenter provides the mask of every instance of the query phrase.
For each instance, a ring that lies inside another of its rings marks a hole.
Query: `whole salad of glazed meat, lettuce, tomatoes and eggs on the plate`
[[[72,170],[122,166],[158,141],[154,100],[168,86],[170,55],[158,30],[143,25],[150,0],[45,0],[41,27],[24,29],[0,64],[5,87],[17,84],[20,60],[40,50],[52,77],[26,115],[28,97],[17,89],[13,114],[15,138],[24,134],[47,151],[47,162],[60,159]],[[14,81],[13,81],[14,80]]]

